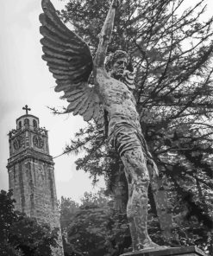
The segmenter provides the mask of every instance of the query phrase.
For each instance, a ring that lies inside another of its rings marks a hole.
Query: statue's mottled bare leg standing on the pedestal
[[[149,175],[146,158],[141,147],[126,150],[122,163],[128,180],[127,215],[133,242],[133,250],[157,246],[147,233],[147,189]]]

